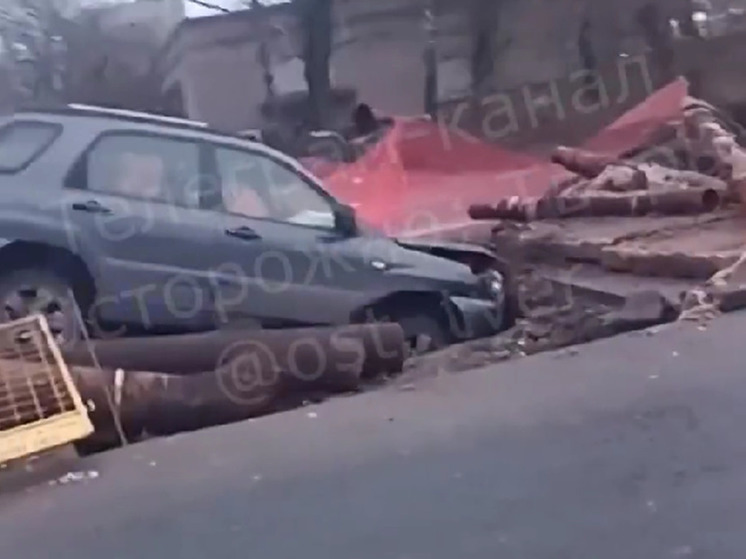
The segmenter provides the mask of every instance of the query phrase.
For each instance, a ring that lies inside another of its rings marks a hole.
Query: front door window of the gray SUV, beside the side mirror
[[[218,148],[223,210],[310,227],[334,227],[329,200],[292,168],[263,154]]]

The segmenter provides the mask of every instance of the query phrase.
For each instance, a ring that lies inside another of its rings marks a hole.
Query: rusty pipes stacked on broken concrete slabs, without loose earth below
[[[687,97],[680,117],[642,145],[619,157],[560,146],[552,161],[571,178],[540,198],[472,206],[470,215],[491,223],[498,253],[568,285],[604,292],[645,278],[688,319],[695,308],[743,308],[745,141],[726,114]]]

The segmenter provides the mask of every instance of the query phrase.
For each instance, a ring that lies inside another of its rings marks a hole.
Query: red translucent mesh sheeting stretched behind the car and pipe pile
[[[619,155],[681,112],[678,80],[625,113],[583,147]],[[361,219],[391,234],[447,229],[469,221],[475,203],[541,196],[569,173],[529,154],[483,142],[424,119],[394,119],[390,131],[349,165],[310,165]]]

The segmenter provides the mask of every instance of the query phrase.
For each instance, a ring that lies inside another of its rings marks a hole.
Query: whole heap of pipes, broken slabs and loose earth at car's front
[[[691,97],[620,156],[558,147],[572,176],[540,198],[472,206],[448,238],[481,242],[521,287],[514,328],[410,360],[400,382],[746,308],[746,135]],[[652,332],[652,330],[649,330]]]

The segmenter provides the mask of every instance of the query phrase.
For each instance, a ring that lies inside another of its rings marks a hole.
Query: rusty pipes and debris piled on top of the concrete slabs
[[[681,119],[656,130],[643,145],[620,157],[560,146],[552,161],[575,176],[541,198],[475,205],[469,214],[527,222],[712,212],[746,192],[745,138],[715,107],[687,97]]]

